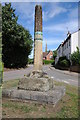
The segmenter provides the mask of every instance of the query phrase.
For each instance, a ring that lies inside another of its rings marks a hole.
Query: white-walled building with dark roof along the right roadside
[[[77,50],[77,47],[80,49],[80,30],[72,34],[68,32],[66,40],[57,48],[55,64],[62,56],[66,56],[70,60],[70,55]]]

